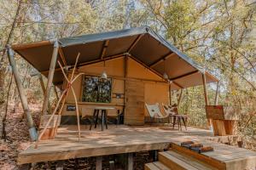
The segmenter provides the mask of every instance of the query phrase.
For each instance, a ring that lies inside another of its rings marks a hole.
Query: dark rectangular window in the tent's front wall
[[[111,78],[83,77],[82,101],[110,103],[111,102]]]

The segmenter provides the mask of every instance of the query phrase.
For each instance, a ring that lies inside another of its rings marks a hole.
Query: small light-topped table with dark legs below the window
[[[93,109],[93,120],[94,120],[94,127],[96,128],[97,126],[97,122],[98,122],[98,118],[99,118],[99,114],[102,114],[102,131],[104,130],[104,123],[106,128],[108,129],[108,113],[107,110],[115,110],[116,108],[114,107],[109,107],[109,106],[96,106],[96,107],[89,107],[91,109]],[[90,123],[90,130],[92,127],[92,123]]]

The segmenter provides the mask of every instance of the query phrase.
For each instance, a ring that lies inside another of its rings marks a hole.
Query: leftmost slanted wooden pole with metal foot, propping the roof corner
[[[26,121],[27,121],[27,125],[29,127],[30,139],[32,139],[32,141],[35,141],[35,140],[38,139],[38,133],[37,133],[37,130],[34,126],[34,122],[32,120],[32,116],[31,116],[31,111],[29,110],[29,107],[28,107],[28,104],[27,104],[26,94],[25,94],[24,88],[22,87],[22,82],[20,80],[20,75],[19,75],[19,72],[18,72],[17,67],[16,67],[14,52],[9,47],[9,45],[7,45],[6,48],[7,48],[8,58],[9,58],[9,64],[12,66],[12,71],[14,73],[15,83],[16,83],[16,86],[18,88],[18,92],[19,92],[19,95],[20,95],[20,101],[21,101],[21,104],[22,104],[22,107],[23,107],[23,111],[26,114]]]

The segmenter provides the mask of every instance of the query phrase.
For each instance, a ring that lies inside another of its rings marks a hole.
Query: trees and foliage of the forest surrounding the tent
[[[238,133],[256,146],[255,13],[252,0],[0,0],[0,136],[11,140],[5,128],[20,102],[6,44],[150,26],[218,77],[218,104],[239,108]],[[15,59],[28,102],[41,106],[32,66],[19,55]],[[207,85],[210,104],[215,88]],[[189,125],[206,127],[202,87],[185,89],[179,109],[189,115]]]

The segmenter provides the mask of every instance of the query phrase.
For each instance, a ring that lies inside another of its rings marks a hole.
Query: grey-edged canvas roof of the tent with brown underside
[[[58,41],[60,43],[58,59],[63,65],[74,65],[78,53],[80,53],[79,65],[128,54],[160,77],[166,73],[173,82],[172,89],[202,84],[202,68],[147,26],[65,37]],[[13,45],[12,48],[44,76],[48,75],[54,48],[50,40]],[[218,79],[208,72],[206,75],[207,82],[218,82]],[[59,84],[62,81],[61,71],[56,69],[54,83]]]

